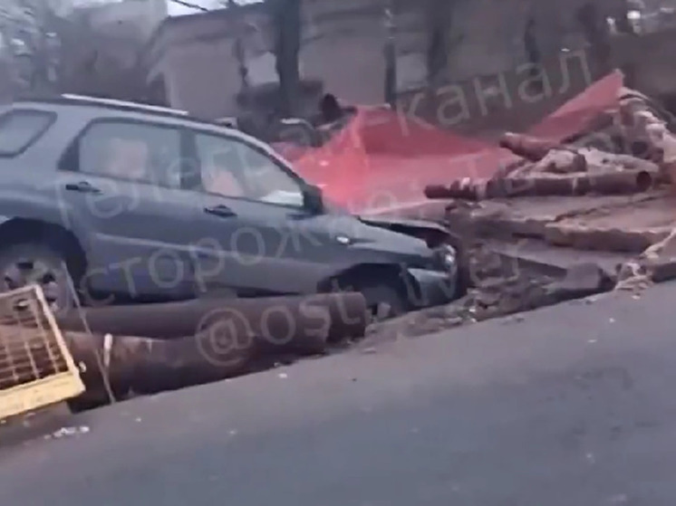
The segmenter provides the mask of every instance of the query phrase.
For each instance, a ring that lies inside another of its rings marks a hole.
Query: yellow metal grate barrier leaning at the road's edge
[[[0,293],[0,418],[84,391],[38,286]]]

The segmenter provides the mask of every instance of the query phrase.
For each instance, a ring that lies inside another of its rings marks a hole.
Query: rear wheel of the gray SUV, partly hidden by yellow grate
[[[44,297],[56,312],[76,307],[62,253],[41,243],[18,243],[0,250],[0,291],[10,291],[35,282],[43,288]]]

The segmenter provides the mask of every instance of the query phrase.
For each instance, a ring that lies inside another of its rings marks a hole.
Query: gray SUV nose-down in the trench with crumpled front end
[[[3,289],[55,310],[350,289],[400,313],[464,288],[440,226],[328,205],[237,129],[77,96],[0,109],[0,244]]]

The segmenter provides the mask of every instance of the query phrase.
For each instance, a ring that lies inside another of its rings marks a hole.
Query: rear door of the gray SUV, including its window
[[[92,289],[189,294],[195,207],[180,188],[184,142],[181,129],[161,123],[98,119],[64,154],[56,184],[88,230]]]

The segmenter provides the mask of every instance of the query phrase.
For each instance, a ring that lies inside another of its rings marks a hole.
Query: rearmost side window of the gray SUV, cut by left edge
[[[11,110],[0,116],[0,156],[13,157],[28,148],[49,128],[52,112]]]

